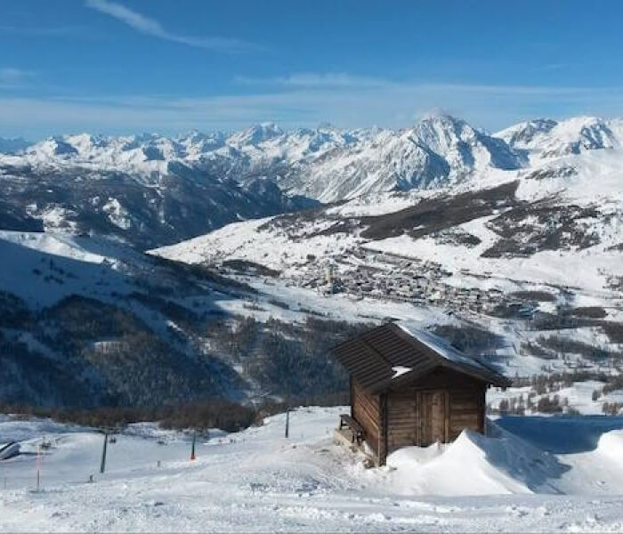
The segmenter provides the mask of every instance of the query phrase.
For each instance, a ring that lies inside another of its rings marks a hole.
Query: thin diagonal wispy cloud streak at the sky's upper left
[[[198,48],[206,48],[216,52],[248,52],[259,50],[259,44],[247,43],[239,39],[220,36],[185,36],[166,30],[158,20],[150,19],[140,12],[135,12],[125,5],[109,2],[109,0],[86,0],[87,7],[120,20],[130,28],[134,28],[148,36],[158,37],[173,43],[187,44]]]

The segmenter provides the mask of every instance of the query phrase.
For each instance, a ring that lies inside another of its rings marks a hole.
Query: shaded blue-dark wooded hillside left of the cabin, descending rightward
[[[390,313],[327,310],[317,295],[262,292],[70,233],[0,231],[0,258],[0,403],[314,398],[344,385],[328,357],[356,328],[344,320]]]

